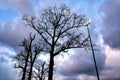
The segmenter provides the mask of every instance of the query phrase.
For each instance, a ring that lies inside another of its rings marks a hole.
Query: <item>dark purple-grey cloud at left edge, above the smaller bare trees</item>
[[[18,45],[32,32],[30,27],[25,27],[21,19],[7,22],[0,27],[0,44],[18,48]]]

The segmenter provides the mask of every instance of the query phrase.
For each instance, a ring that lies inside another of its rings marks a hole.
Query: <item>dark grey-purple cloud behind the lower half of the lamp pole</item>
[[[100,72],[105,69],[106,57],[101,51],[96,51],[95,55]],[[96,73],[92,53],[80,49],[75,50],[74,55],[58,67],[58,71],[64,76],[78,76],[80,74],[95,76]]]

